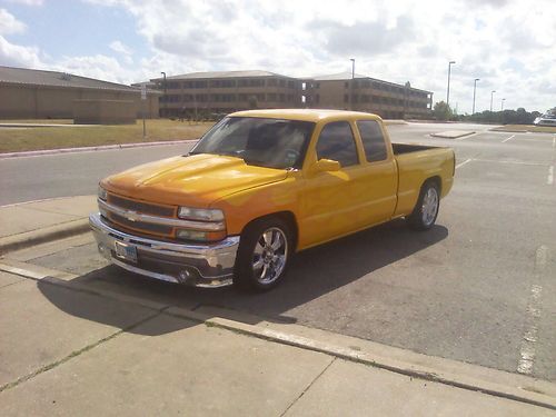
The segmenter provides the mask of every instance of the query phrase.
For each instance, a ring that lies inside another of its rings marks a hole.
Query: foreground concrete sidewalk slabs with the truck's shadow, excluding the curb
[[[199,316],[0,272],[2,415],[554,415]]]

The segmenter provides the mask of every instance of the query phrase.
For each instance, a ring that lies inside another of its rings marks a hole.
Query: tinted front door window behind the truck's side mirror
[[[317,158],[338,161],[341,168],[359,163],[354,133],[347,121],[325,126],[317,142]]]

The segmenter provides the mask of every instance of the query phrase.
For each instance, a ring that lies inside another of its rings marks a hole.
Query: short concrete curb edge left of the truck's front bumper
[[[24,249],[33,245],[44,244],[50,240],[85,234],[89,230],[89,219],[78,219],[38,230],[7,236],[0,239],[0,255],[4,255],[17,249]]]

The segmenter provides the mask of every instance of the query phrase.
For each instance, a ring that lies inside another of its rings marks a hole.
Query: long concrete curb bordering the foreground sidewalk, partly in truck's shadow
[[[10,266],[10,264],[12,264]],[[26,265],[30,269],[26,269]],[[183,318],[195,322],[203,324],[208,327],[217,327],[225,330],[234,331],[249,337],[256,337],[270,342],[277,342],[280,345],[287,345],[291,347],[297,347],[300,349],[311,350],[320,353],[324,355],[329,355],[336,358],[348,360],[351,363],[363,364],[367,366],[373,366],[379,369],[385,369],[396,374],[405,375],[413,378],[418,378],[423,380],[429,380],[433,383],[438,383],[460,389],[466,389],[470,391],[481,393],[490,395],[498,398],[515,400],[519,403],[530,404],[534,406],[556,410],[556,396],[550,396],[549,394],[543,394],[534,390],[528,390],[522,386],[510,386],[504,384],[504,376],[507,374],[505,371],[497,371],[492,369],[492,371],[500,375],[498,381],[484,380],[474,378],[473,376],[454,374],[441,369],[433,364],[424,364],[420,361],[408,361],[404,359],[396,359],[391,357],[385,357],[384,355],[377,354],[373,350],[357,350],[350,347],[342,347],[340,345],[334,345],[327,341],[318,340],[316,338],[309,338],[305,336],[294,335],[291,332],[285,332],[281,330],[275,330],[261,325],[249,325],[241,321],[236,321],[222,317],[218,317],[215,312],[207,314],[197,310],[189,310],[181,307],[175,307],[166,302],[145,300],[136,296],[127,296],[112,290],[99,289],[89,286],[87,282],[72,282],[72,276],[70,274],[42,268],[34,266],[32,264],[26,262],[13,262],[9,259],[0,262],[0,270],[11,271],[12,274],[27,277],[37,281],[48,282],[50,285],[61,286],[68,289],[85,291],[89,294],[95,294],[101,297],[108,297],[121,302],[137,304],[153,310],[161,311],[161,314]],[[219,310],[217,308],[217,310]],[[221,310],[226,315],[226,310]],[[341,336],[341,335],[336,335]],[[416,355],[409,351],[409,355]],[[443,358],[434,358],[436,360],[449,361]],[[526,387],[535,388],[535,383],[537,380],[533,377],[520,376],[523,380],[526,381]],[[545,387],[549,386],[548,391],[555,391],[556,385],[549,381],[542,381]],[[522,384],[525,385],[525,384]]]

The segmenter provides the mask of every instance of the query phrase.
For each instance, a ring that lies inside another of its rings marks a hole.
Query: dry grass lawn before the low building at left
[[[80,148],[101,145],[155,142],[200,138],[214,122],[189,123],[168,119],[147,120],[147,137],[142,137],[142,120],[135,125],[68,126],[66,120],[0,120],[0,123],[60,123],[60,127],[0,128],[0,153],[27,150]]]

